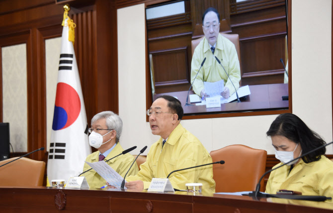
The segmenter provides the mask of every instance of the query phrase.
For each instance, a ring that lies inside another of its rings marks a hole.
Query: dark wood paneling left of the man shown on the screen
[[[190,1],[185,13],[147,21],[148,50],[153,55],[155,93],[188,90],[191,66]],[[147,57],[148,58],[148,57]]]

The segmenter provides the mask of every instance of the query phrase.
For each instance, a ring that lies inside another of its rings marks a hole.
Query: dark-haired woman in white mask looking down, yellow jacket
[[[281,161],[275,167],[326,144],[316,132],[291,113],[277,116],[267,136],[272,139],[275,157]],[[272,171],[266,193],[276,194],[283,189],[301,192],[302,195],[333,197],[333,162],[324,156],[325,152],[326,148],[321,148]],[[332,203],[332,200],[326,202]]]

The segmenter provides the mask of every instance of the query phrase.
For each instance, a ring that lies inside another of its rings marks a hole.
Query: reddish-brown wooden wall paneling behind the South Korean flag
[[[88,122],[101,110],[118,112],[116,9],[114,1],[93,2],[69,13],[77,24],[75,51]],[[0,2],[0,45],[27,43],[28,152],[46,147],[45,39],[61,36],[63,12],[54,0]],[[30,158],[47,161],[47,152]]]

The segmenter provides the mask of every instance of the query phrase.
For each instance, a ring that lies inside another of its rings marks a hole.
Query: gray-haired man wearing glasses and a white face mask
[[[102,111],[93,116],[91,127],[89,128],[89,144],[98,149],[98,151],[88,155],[85,161],[91,163],[101,160],[106,161],[124,151],[119,143],[122,127],[122,120],[112,111]],[[106,163],[124,177],[133,161],[133,155],[127,153]],[[90,167],[84,163],[83,171],[88,169]],[[136,175],[138,171],[138,165],[135,163],[128,175]],[[90,188],[100,188],[106,183],[93,169],[84,173],[83,176],[85,176]]]

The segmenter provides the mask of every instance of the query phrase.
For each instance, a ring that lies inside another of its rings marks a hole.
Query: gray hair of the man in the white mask
[[[99,119],[105,118],[106,126],[108,129],[114,129],[116,131],[116,142],[119,141],[121,131],[123,129],[123,121],[113,111],[102,111],[92,117],[91,123],[96,122]]]

